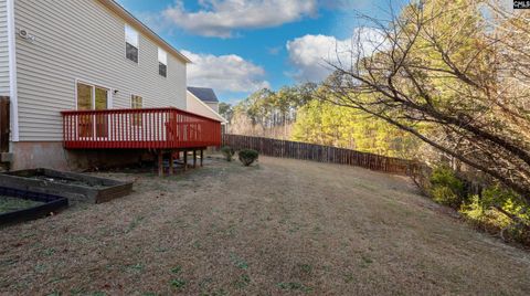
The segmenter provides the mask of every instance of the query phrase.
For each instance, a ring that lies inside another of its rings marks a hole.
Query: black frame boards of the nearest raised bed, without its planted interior
[[[43,204],[39,204],[36,207],[1,213],[0,225],[43,218],[52,212],[56,212],[68,207],[68,200],[66,198],[40,192],[0,187],[0,195],[43,202]]]

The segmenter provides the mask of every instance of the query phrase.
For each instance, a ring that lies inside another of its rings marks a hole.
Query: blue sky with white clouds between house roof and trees
[[[118,0],[193,61],[188,85],[236,103],[261,88],[318,82],[358,13],[389,18],[404,0]],[[391,3],[392,2],[392,3]]]

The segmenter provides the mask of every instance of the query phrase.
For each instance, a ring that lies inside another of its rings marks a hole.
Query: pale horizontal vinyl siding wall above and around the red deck
[[[15,1],[15,28],[35,36],[32,43],[17,38],[21,141],[62,140],[60,112],[76,108],[76,80],[110,87],[113,108],[130,108],[135,94],[144,107],[186,109],[186,64],[168,55],[161,80],[158,45],[140,33],[141,61],[128,61],[125,25],[96,0]]]

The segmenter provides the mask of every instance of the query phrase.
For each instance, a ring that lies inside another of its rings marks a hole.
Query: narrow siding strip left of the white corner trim
[[[0,96],[9,96],[8,0],[0,0]]]

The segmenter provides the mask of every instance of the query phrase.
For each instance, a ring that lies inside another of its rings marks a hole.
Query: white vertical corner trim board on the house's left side
[[[17,87],[17,51],[14,28],[14,0],[7,1],[8,54],[9,54],[9,101],[11,105],[11,141],[19,141],[19,99]]]

